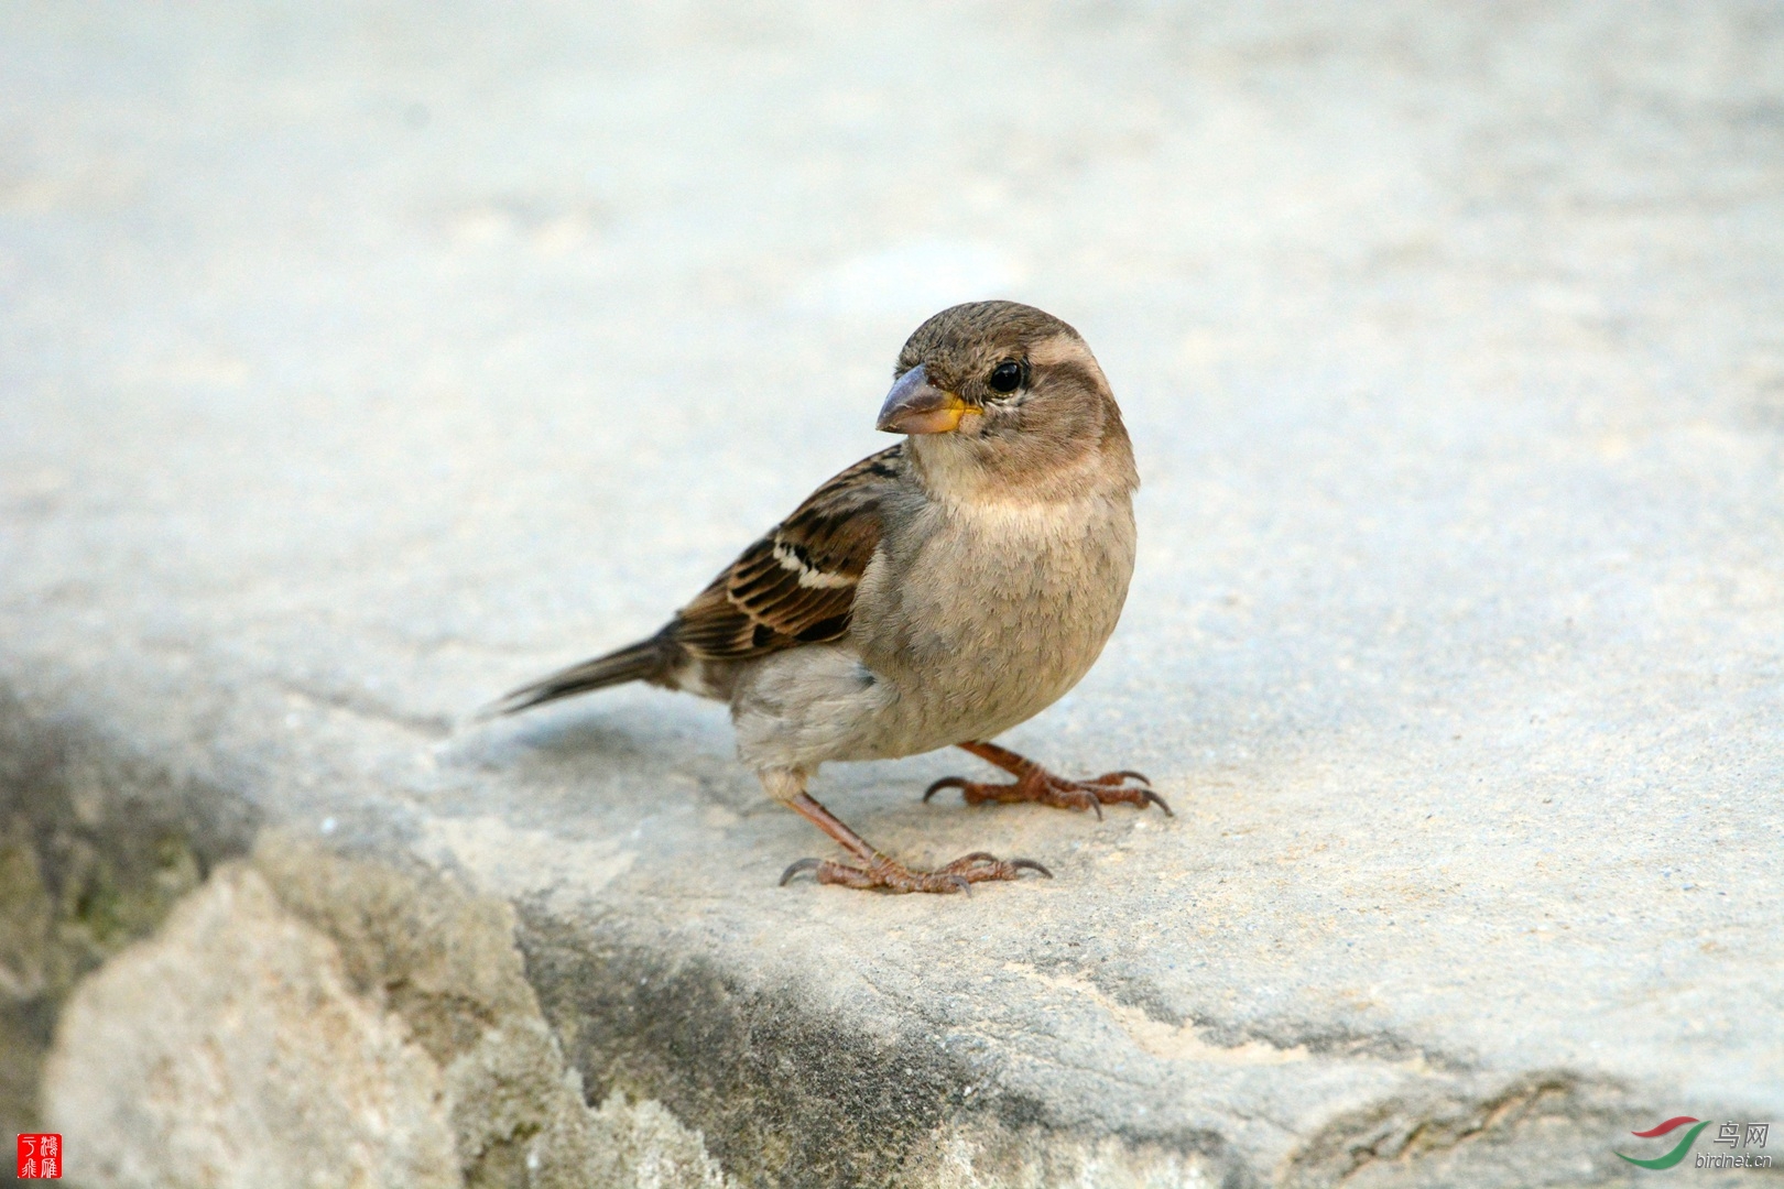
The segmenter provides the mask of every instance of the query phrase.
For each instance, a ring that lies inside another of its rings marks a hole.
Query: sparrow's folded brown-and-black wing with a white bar
[[[842,638],[903,460],[903,444],[883,449],[812,492],[676,613],[674,640],[701,660],[739,661]]]

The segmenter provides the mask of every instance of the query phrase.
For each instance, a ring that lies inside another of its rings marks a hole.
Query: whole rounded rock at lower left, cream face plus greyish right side
[[[501,906],[268,840],[62,1011],[45,1112],[109,1185],[724,1189],[657,1102],[583,1103]]]

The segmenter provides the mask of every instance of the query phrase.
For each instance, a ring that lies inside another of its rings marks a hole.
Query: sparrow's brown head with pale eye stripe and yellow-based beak
[[[1131,472],[1095,357],[1076,330],[1031,305],[942,310],[904,342],[894,374],[878,428],[912,435],[931,467],[1028,483],[1110,451]]]

